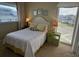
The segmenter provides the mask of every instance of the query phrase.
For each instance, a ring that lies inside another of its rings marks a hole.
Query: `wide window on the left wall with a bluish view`
[[[18,21],[16,7],[0,4],[0,22],[15,22],[15,21]]]

